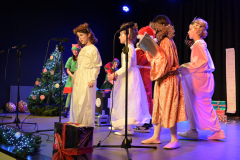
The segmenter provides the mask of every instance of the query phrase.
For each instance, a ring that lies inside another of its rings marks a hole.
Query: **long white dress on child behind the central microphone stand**
[[[128,125],[142,125],[144,123],[149,123],[151,116],[148,111],[146,90],[140,71],[137,68],[135,48],[132,44],[129,44],[128,47]],[[125,57],[126,55],[122,53],[122,67],[116,71],[118,77],[112,89],[114,98],[111,120],[113,127],[122,127],[125,125]],[[112,108],[112,93],[110,106]]]

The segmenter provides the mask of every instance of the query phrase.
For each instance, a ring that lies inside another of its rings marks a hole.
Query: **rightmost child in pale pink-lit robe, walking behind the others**
[[[194,19],[189,25],[188,35],[194,40],[191,46],[191,61],[181,65],[181,80],[184,91],[186,110],[190,123],[190,130],[178,133],[179,136],[198,139],[197,128],[211,130],[213,134],[208,139],[226,138],[221,130],[217,115],[211,104],[214,93],[215,70],[207,44],[203,38],[207,37],[208,23],[200,18]]]

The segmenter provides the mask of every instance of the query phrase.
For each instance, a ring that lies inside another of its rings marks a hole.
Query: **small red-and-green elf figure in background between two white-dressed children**
[[[108,62],[105,66],[105,72],[106,77],[105,77],[105,81],[102,85],[102,87],[100,89],[112,89],[113,87],[113,80],[112,81],[108,81],[108,75],[114,73],[115,71],[118,70],[118,65],[119,65],[119,60],[117,58],[114,58],[114,60],[112,62]]]

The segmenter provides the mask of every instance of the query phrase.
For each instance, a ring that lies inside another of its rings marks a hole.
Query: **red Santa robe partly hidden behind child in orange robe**
[[[152,81],[150,80],[151,64],[148,62],[146,54],[140,49],[136,48],[137,65],[141,73],[143,84],[147,93],[149,113],[152,116],[153,102],[152,102]]]

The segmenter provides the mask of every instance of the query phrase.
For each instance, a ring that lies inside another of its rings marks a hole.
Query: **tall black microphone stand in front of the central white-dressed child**
[[[98,143],[97,145],[93,145],[94,148],[96,147],[110,147],[110,148],[124,148],[127,152],[127,156],[128,159],[130,159],[129,156],[129,148],[153,148],[153,149],[157,149],[156,146],[133,146],[131,145],[132,143],[132,138],[128,138],[127,135],[127,126],[128,126],[128,52],[129,52],[129,48],[128,48],[128,31],[126,29],[126,44],[123,48],[123,53],[126,54],[126,86],[125,86],[125,138],[122,141],[121,145],[101,145],[101,143]],[[112,106],[113,107],[113,106]]]

